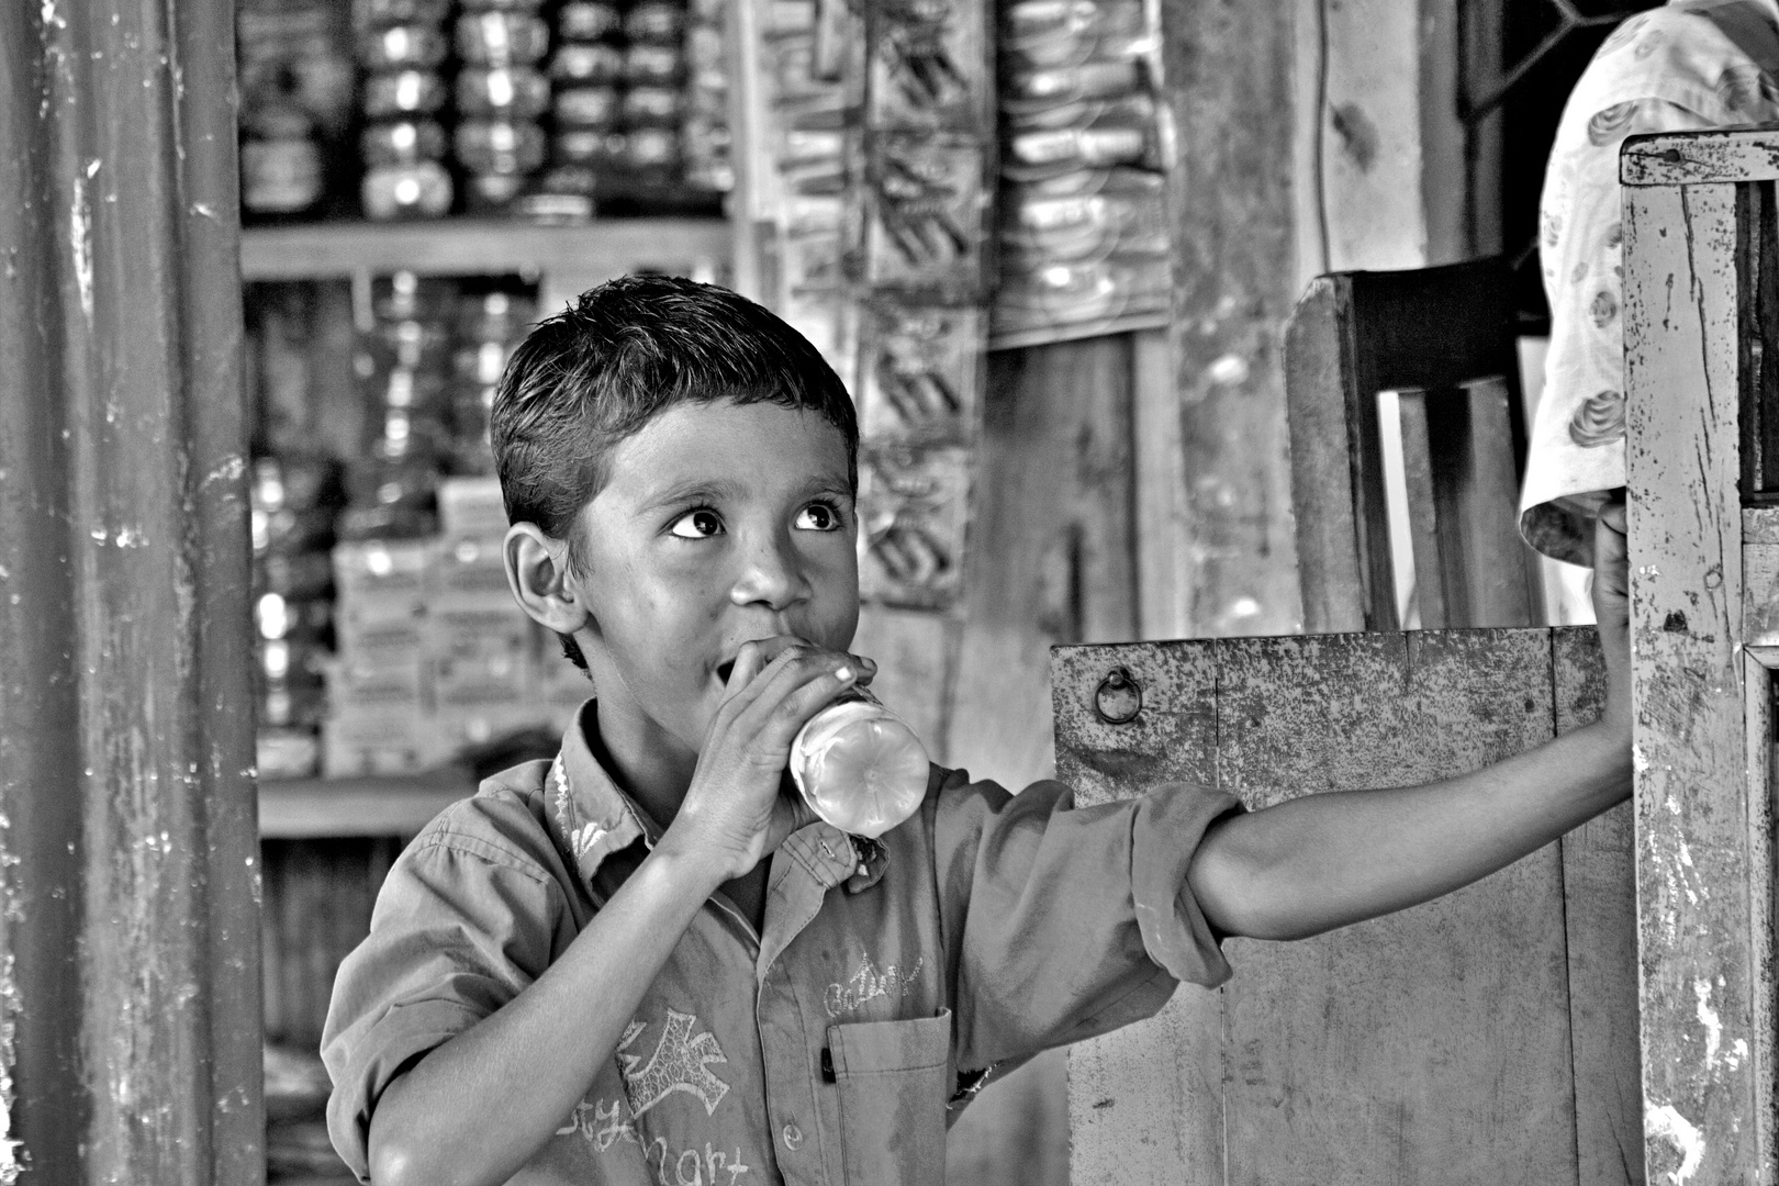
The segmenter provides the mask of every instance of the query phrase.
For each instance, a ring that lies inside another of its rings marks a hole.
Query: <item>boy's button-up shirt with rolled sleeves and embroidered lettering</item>
[[[363,1179],[390,1081],[532,983],[660,836],[584,727],[400,855],[334,982],[327,1122]],[[1229,967],[1187,889],[1238,802],[1194,786],[1075,807],[934,768],[877,841],[772,855],[760,934],[715,894],[537,1156],[528,1184],[943,1182],[948,1117],[1030,1054],[1155,1014]]]

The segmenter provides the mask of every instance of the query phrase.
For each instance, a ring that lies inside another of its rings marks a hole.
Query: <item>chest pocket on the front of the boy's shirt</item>
[[[847,1186],[943,1186],[952,1010],[829,1026]]]

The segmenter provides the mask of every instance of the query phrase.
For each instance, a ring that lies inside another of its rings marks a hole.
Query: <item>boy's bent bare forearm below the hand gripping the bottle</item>
[[[610,1060],[713,877],[712,862],[664,837],[543,976],[390,1085],[370,1122],[372,1181],[516,1174]]]

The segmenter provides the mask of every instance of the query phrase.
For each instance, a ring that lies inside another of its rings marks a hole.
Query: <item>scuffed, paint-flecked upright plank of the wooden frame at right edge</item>
[[[1703,169],[1679,140],[1649,144],[1681,151],[1665,178]],[[1735,213],[1733,185],[1626,192],[1644,1131],[1651,1177],[1676,1182],[1774,1174],[1772,1070],[1752,1056],[1774,982],[1751,896],[1772,868],[1749,839]]]

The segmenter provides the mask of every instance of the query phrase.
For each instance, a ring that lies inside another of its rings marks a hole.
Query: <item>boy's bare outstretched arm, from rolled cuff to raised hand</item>
[[[1631,683],[1624,505],[1594,539],[1606,708],[1590,725],[1473,773],[1377,791],[1306,795],[1213,827],[1187,871],[1231,935],[1302,939],[1487,877],[1624,800]]]

